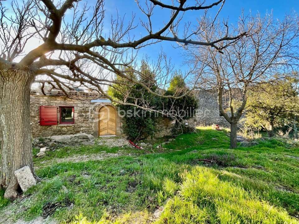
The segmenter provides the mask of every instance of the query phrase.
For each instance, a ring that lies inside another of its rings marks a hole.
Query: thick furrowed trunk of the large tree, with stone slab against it
[[[31,71],[0,69],[0,148],[4,197],[17,197],[19,184],[14,171],[29,166],[32,173],[30,129]]]

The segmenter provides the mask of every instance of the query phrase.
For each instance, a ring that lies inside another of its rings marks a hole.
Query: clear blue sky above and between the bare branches
[[[140,0],[140,2],[143,2]],[[171,1],[162,1],[164,3],[170,3]],[[194,1],[193,0],[187,0],[187,4],[191,5]],[[208,3],[214,2],[213,0],[206,1]],[[118,9],[119,15],[125,15],[126,19],[131,19],[132,13],[136,14],[135,24],[139,23],[139,18],[145,19],[144,15],[140,12],[139,8],[137,7],[137,4],[135,0],[113,0],[113,1],[106,1],[105,2],[105,9],[106,9],[106,20],[107,22],[110,20],[111,15],[113,17],[116,16],[116,8]],[[212,10],[209,11],[211,13],[211,16],[215,15],[215,13],[218,11],[219,7],[215,7]],[[250,11],[253,14],[256,14],[259,12],[260,14],[264,15],[266,12],[273,12],[274,18],[282,19],[283,16],[286,13],[290,13],[293,10],[295,12],[299,11],[299,3],[297,0],[226,0],[225,5],[223,9],[221,10],[221,13],[219,14],[219,18],[222,20],[229,19],[229,23],[235,23],[238,20],[238,17],[240,16],[242,9],[244,9],[244,13],[248,14]],[[158,28],[161,28],[164,25],[164,22],[167,22],[169,19],[169,13],[170,11],[168,9],[161,10],[160,7],[156,7],[153,15],[153,23],[155,31],[158,30]],[[201,16],[201,11],[190,11],[185,13],[184,15],[184,21],[192,21],[194,24],[196,22],[196,18]],[[109,29],[109,27],[107,27]],[[140,37],[141,34],[146,35],[146,30],[140,26],[139,28],[135,30],[136,38]],[[138,36],[139,35],[139,36]],[[163,47],[164,52],[167,53],[168,57],[172,58],[172,62],[175,63],[176,68],[184,68],[184,65],[182,64],[182,57],[181,52],[178,49],[173,49],[172,45],[175,45],[174,43],[169,42],[162,42],[159,44],[152,45],[151,47],[144,48],[140,51],[141,55],[139,55],[139,58],[142,58],[142,54],[148,54],[151,58],[157,57],[158,52],[161,49],[161,46]]]

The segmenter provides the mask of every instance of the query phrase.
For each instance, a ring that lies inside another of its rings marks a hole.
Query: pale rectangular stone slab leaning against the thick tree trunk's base
[[[29,166],[24,166],[21,169],[16,170],[15,176],[23,192],[33,185],[36,185],[36,180],[31,173]]]

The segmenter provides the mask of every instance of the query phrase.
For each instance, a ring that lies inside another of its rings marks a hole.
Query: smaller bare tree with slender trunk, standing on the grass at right
[[[237,147],[237,123],[244,112],[248,90],[296,75],[292,71],[298,68],[298,24],[296,15],[287,15],[283,21],[275,21],[272,15],[241,16],[232,30],[225,22],[219,29],[218,22],[215,29],[200,34],[200,38],[210,40],[246,30],[244,38],[230,42],[229,46],[218,43],[225,48],[224,54],[201,46],[188,49],[186,56],[200,69],[197,87],[218,92],[219,114],[230,123],[230,147]],[[278,73],[283,75],[277,77]]]

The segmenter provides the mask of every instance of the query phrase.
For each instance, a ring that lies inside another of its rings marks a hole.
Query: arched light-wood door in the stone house
[[[116,135],[116,110],[103,106],[99,111],[99,136]]]

